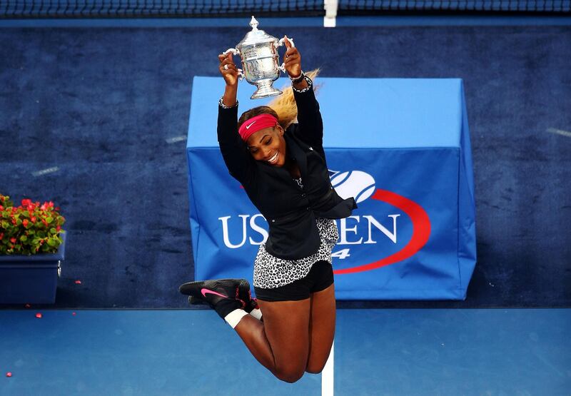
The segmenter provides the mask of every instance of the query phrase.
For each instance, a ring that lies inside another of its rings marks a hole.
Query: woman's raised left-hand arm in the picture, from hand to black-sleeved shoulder
[[[253,158],[238,134],[238,68],[232,54],[218,55],[218,70],[226,81],[224,95],[218,103],[218,145],[228,172],[246,185],[253,178]]]

